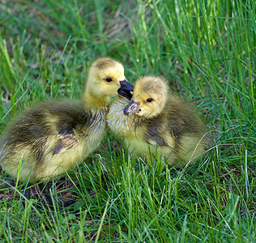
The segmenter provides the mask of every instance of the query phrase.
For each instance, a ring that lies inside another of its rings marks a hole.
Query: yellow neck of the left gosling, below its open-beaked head
[[[82,102],[87,109],[93,110],[105,110],[109,108],[110,104],[109,96],[96,96],[90,89],[83,92]]]

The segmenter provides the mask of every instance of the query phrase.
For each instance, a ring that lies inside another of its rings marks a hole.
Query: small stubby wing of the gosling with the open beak
[[[57,135],[58,143],[53,151],[53,155],[62,153],[75,147],[79,143],[79,139],[75,133],[68,129],[62,129]]]

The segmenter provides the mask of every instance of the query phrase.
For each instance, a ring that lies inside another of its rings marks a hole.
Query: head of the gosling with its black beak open
[[[98,58],[92,62],[85,96],[88,92],[90,95],[108,102],[111,96],[117,95],[117,90],[127,99],[131,98],[130,91],[133,91],[133,86],[126,81],[122,64],[112,58]]]

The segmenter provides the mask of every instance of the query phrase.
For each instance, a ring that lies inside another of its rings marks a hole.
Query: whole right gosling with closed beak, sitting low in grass
[[[160,77],[138,79],[132,101],[119,98],[106,118],[110,130],[129,152],[151,160],[160,153],[169,167],[194,163],[211,144],[198,115],[189,104],[170,94]]]

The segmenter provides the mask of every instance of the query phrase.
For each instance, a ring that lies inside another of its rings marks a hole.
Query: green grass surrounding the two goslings
[[[116,58],[131,83],[162,75],[215,137],[202,160],[161,170],[109,135],[53,194],[79,212],[20,207],[0,185],[2,242],[254,242],[256,238],[255,1],[2,1],[1,130],[30,104],[79,98],[87,67]],[[64,188],[64,189],[63,189]]]

